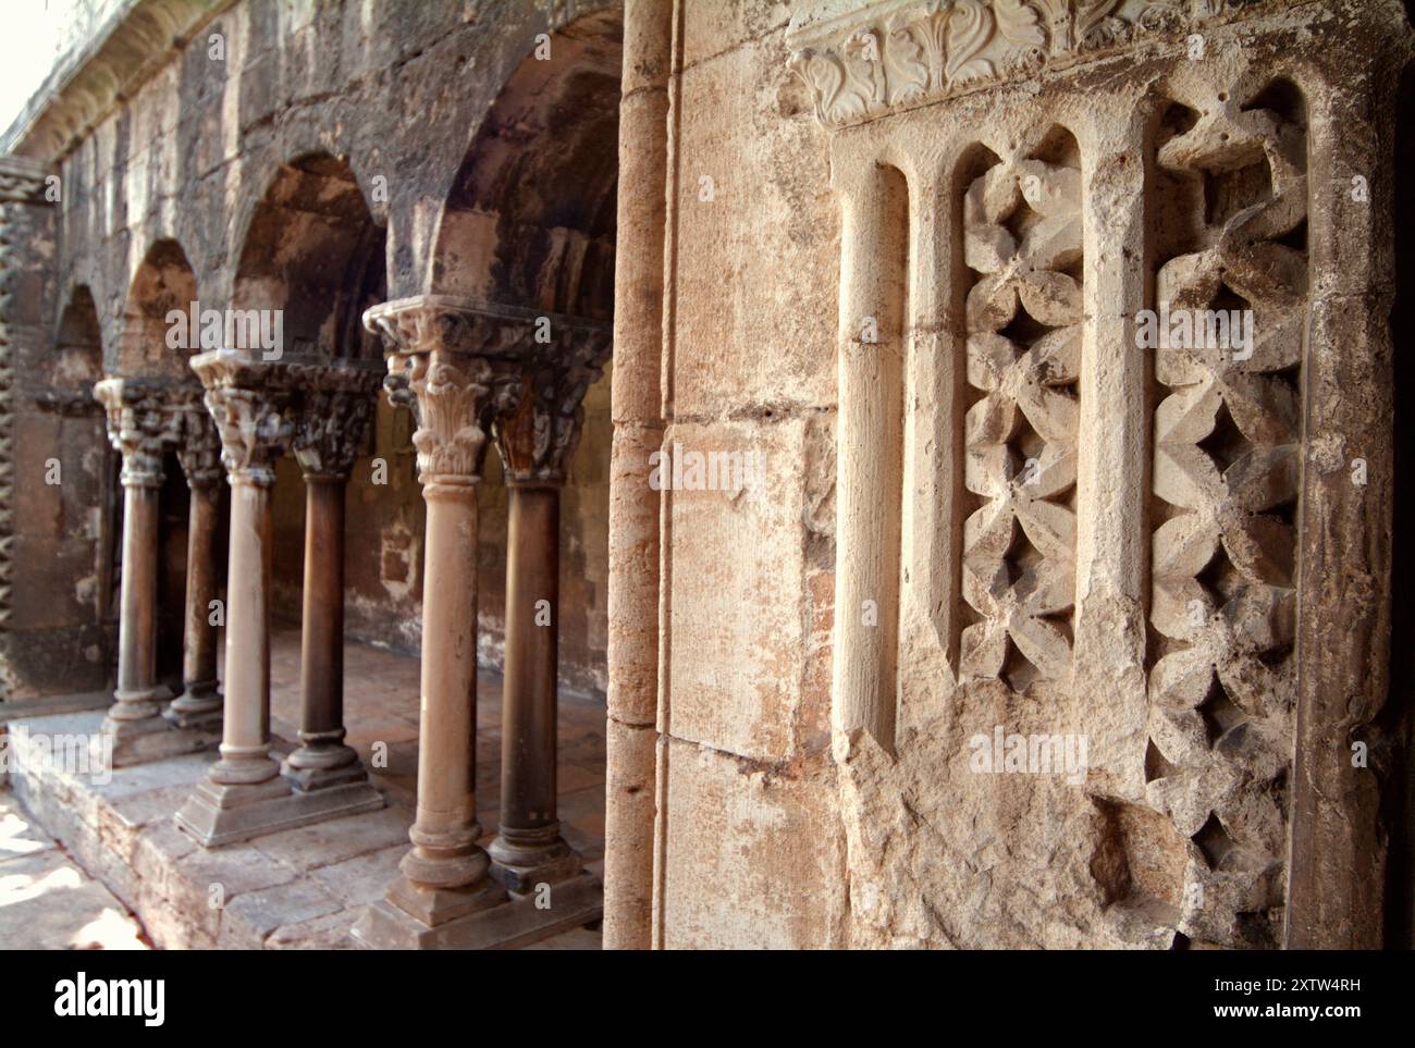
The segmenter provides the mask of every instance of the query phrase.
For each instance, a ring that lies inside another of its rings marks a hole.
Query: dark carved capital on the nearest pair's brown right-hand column
[[[584,393],[604,373],[611,339],[600,328],[579,328],[543,347],[522,369],[521,396],[497,416],[497,451],[509,485],[558,485],[574,454],[584,420]]]

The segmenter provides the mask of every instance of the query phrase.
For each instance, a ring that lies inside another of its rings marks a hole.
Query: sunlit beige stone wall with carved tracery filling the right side
[[[625,40],[607,939],[1378,945],[1401,6]],[[675,441],[764,491],[647,492]]]

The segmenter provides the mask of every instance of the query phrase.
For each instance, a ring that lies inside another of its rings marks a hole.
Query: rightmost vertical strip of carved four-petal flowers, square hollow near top
[[[1251,330],[1224,345],[1196,321],[1155,348],[1148,791],[1194,843],[1182,931],[1272,946],[1296,686],[1307,147],[1292,85],[1240,102],[1232,88],[1201,99],[1203,115],[1172,106],[1157,137],[1157,311],[1251,310]]]

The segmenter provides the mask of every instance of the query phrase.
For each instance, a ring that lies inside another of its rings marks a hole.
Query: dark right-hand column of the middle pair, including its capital
[[[311,369],[294,434],[306,485],[300,748],[282,772],[297,792],[357,784],[382,796],[344,743],[344,492],[374,416],[382,369]]]

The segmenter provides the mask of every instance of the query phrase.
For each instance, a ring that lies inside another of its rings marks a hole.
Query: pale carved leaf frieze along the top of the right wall
[[[1176,33],[1252,0],[887,0],[792,30],[790,68],[826,124],[937,100]]]

